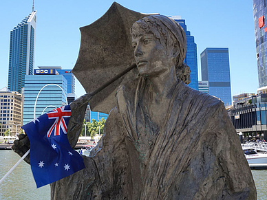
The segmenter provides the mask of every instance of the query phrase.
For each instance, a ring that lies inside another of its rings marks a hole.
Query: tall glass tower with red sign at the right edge
[[[267,2],[253,0],[259,88],[267,86]]]

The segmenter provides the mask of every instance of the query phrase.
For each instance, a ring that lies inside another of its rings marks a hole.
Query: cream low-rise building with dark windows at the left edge
[[[17,135],[21,129],[23,99],[17,91],[7,87],[0,89],[0,136],[6,131],[9,135]]]

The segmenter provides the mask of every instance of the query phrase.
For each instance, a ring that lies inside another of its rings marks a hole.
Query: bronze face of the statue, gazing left
[[[153,34],[142,34],[132,38],[131,45],[141,76],[158,76],[169,69],[170,57]]]

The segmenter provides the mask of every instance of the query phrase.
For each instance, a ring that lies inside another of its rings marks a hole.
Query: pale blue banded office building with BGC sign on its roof
[[[45,85],[47,86],[44,87]],[[34,119],[35,100],[42,88],[36,102],[36,118],[67,104],[67,80],[64,76],[59,75],[53,67],[34,69],[34,75],[25,76],[23,124]]]

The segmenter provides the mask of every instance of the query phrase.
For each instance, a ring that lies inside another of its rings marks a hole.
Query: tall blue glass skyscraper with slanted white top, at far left
[[[25,84],[25,75],[32,75],[34,68],[36,11],[25,17],[10,32],[8,89],[18,91]]]

